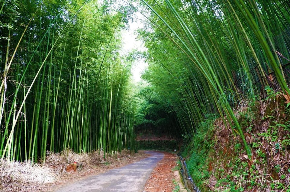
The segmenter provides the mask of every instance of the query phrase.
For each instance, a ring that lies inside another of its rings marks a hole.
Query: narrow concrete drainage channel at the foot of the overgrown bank
[[[191,176],[189,175],[185,160],[181,156],[179,156],[179,158],[180,158],[180,161],[182,162],[181,174],[182,174],[183,184],[185,185],[186,190],[191,191],[191,192],[201,192],[198,189],[198,187],[195,185],[195,183],[193,182]]]

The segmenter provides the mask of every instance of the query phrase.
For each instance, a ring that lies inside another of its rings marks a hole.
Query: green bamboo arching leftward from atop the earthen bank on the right
[[[215,115],[251,149],[233,112],[265,89],[289,93],[290,3],[286,0],[142,0],[150,22],[143,78],[176,111],[183,133]]]

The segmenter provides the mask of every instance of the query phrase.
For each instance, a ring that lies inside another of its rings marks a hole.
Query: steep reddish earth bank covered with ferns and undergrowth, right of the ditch
[[[290,109],[281,93],[266,91],[235,111],[253,162],[229,122],[211,118],[197,127],[182,156],[201,191],[290,192]]]

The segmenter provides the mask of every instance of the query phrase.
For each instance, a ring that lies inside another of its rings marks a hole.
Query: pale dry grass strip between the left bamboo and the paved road
[[[57,154],[47,152],[45,165],[31,165],[30,161],[8,163],[2,159],[0,161],[0,191],[46,191],[46,186],[56,186],[62,179],[68,180],[70,177],[96,174],[145,156],[143,152],[132,155],[130,151],[123,150],[122,153],[115,152],[113,156],[107,155],[106,159],[103,159],[103,151],[77,154],[72,150],[66,150]],[[66,167],[75,161],[77,162],[76,173],[67,172]]]

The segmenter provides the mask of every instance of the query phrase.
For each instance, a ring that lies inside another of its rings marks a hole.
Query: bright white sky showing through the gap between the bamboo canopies
[[[138,51],[146,50],[146,48],[143,46],[142,41],[137,40],[137,34],[134,34],[135,30],[143,27],[141,21],[143,19],[143,16],[139,12],[137,12],[133,16],[133,18],[134,21],[129,23],[130,29],[121,31],[124,53],[129,53],[133,49],[137,49]],[[144,62],[144,59],[140,59],[133,64],[131,73],[135,82],[140,81],[141,73],[144,69],[146,69],[147,66],[148,64]]]

